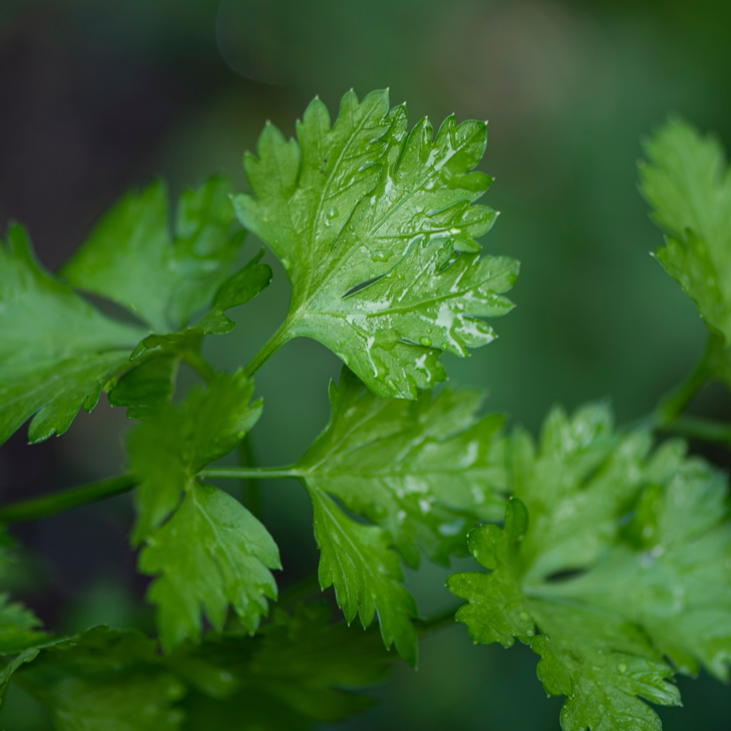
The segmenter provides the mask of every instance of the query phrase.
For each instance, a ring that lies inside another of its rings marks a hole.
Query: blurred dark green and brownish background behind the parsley
[[[315,94],[334,113],[354,87],[389,86],[412,122],[489,120],[484,202],[502,212],[485,251],[523,265],[518,308],[500,338],[466,360],[459,384],[484,387],[490,408],[537,428],[555,403],[610,398],[618,421],[640,417],[688,371],[704,327],[648,252],[661,243],[636,189],[640,137],[673,111],[731,142],[731,4],[727,0],[58,0],[0,3],[0,224],[27,224],[57,268],[107,205],[156,175],[173,192],[225,171],[271,119],[287,135]],[[258,246],[252,240],[251,254]],[[287,309],[281,267],[238,325],[209,338],[216,366],[253,355]],[[327,420],[339,371],[309,341],[261,371],[265,414],[253,433],[261,463],[297,458]],[[192,382],[192,376],[184,376]],[[709,390],[700,413],[728,417]],[[0,499],[11,501],[124,469],[124,414],[105,404],[61,439],[0,449]],[[711,452],[724,463],[724,456]],[[295,483],[265,485],[265,522],[282,550],[281,584],[317,561],[311,513]],[[150,625],[126,544],[129,496],[19,526],[7,577],[51,629],[100,621]],[[445,572],[425,564],[408,583],[423,613],[450,605]],[[399,666],[382,704],[352,729],[558,729],[525,648],[473,648],[463,627],[428,637],[421,667]],[[681,681],[685,707],[665,729],[726,731],[728,689]],[[18,692],[2,727],[45,729]]]

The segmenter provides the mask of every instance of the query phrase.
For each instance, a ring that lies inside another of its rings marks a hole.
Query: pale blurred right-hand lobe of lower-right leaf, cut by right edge
[[[731,664],[731,523],[727,479],[683,445],[667,444],[651,466],[625,540],[561,596],[590,602],[638,625],[673,662],[728,681]],[[656,481],[655,481],[656,480]]]

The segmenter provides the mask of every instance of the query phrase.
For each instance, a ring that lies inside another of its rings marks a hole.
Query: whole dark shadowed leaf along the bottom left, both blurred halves
[[[208,632],[167,655],[140,632],[96,626],[6,656],[0,682],[33,695],[63,731],[309,730],[374,705],[362,691],[393,662],[375,632],[330,620],[325,602],[275,610],[253,636]]]

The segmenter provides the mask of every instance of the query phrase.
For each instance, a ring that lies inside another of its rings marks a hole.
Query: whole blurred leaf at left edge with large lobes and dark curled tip
[[[224,311],[271,279],[262,254],[230,276],[243,232],[232,233],[228,192],[227,181],[212,178],[183,193],[174,245],[162,183],[128,194],[61,270],[76,287],[143,317],[145,327],[102,315],[39,266],[20,226],[10,228],[7,244],[0,242],[0,443],[33,414],[31,442],[64,433],[124,371],[129,378],[110,401],[128,406],[129,417],[147,417],[167,401],[177,360],[197,357],[203,335],[231,330]],[[206,305],[204,317],[185,327]],[[176,360],[133,375],[153,355]]]

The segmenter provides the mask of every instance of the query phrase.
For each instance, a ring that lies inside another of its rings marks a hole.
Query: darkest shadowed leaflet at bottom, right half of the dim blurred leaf
[[[322,602],[293,615],[276,610],[255,637],[209,633],[169,664],[195,689],[189,727],[278,731],[362,713],[374,699],[358,691],[382,681],[391,662],[377,633],[330,624]]]

